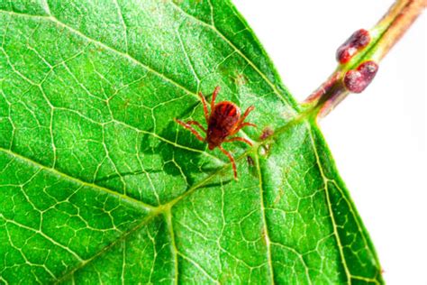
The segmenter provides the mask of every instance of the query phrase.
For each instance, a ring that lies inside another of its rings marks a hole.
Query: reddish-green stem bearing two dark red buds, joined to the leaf
[[[302,106],[317,118],[328,115],[350,93],[360,93],[375,77],[378,62],[427,6],[427,0],[396,0],[370,30],[354,32],[337,51],[339,65]]]

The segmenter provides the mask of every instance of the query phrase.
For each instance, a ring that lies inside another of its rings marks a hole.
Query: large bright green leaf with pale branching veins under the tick
[[[382,282],[322,133],[228,1],[0,10],[0,282]],[[173,120],[204,122],[216,86],[256,106],[254,146],[224,144],[239,181]]]

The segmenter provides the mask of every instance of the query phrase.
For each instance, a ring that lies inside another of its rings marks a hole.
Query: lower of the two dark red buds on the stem
[[[377,71],[378,65],[375,61],[365,61],[359,65],[358,69],[347,71],[344,76],[344,85],[350,92],[360,93],[375,78]]]

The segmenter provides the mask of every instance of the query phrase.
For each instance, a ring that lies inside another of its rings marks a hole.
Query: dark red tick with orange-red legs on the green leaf
[[[252,111],[255,107],[250,106],[248,109],[246,109],[245,114],[241,116],[241,109],[232,102],[223,101],[215,105],[215,98],[218,95],[219,91],[220,87],[215,87],[215,89],[213,90],[211,101],[211,114],[209,114],[209,111],[207,110],[206,99],[204,98],[202,92],[199,93],[199,96],[202,99],[203,103],[204,118],[206,119],[207,123],[207,131],[206,129],[204,129],[203,125],[197,121],[188,121],[186,123],[178,119],[175,119],[175,121],[177,122],[177,124],[181,124],[187,130],[193,133],[199,141],[207,142],[209,150],[213,150],[215,147],[218,147],[221,152],[228,156],[228,158],[232,162],[234,179],[237,179],[236,162],[232,158],[232,154],[230,152],[225,151],[221,144],[223,142],[239,141],[252,145],[252,143],[247,139],[238,136],[229,139],[227,137],[236,134],[244,126],[248,125],[256,127],[256,124],[244,122],[246,117],[250,114],[250,111]],[[206,138],[203,138],[200,133],[198,133],[195,128],[191,126],[192,124],[195,124],[204,133],[206,133]]]

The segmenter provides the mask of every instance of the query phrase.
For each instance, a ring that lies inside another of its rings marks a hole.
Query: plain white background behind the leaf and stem
[[[304,100],[336,67],[352,32],[393,1],[234,0],[286,87]],[[427,284],[427,24],[423,14],[321,128],[377,248],[388,284]]]

